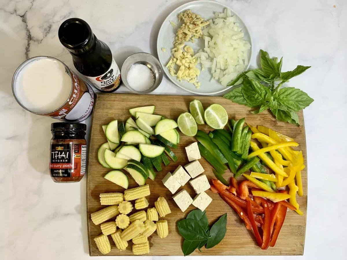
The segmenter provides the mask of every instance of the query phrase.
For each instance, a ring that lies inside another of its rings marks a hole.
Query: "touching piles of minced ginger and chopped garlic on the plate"
[[[202,29],[209,24],[209,21],[203,19],[200,15],[194,14],[191,10],[186,10],[178,15],[178,20],[183,21],[183,24],[176,32],[174,41],[174,49],[171,50],[171,58],[166,65],[171,76],[176,76],[179,81],[187,80],[193,83],[196,88],[200,87],[200,82],[197,81],[197,76],[200,75],[200,70],[196,68],[197,58],[194,57],[192,47],[185,45],[185,42],[194,42],[195,39],[203,36]],[[175,70],[175,65],[179,66],[178,71]]]

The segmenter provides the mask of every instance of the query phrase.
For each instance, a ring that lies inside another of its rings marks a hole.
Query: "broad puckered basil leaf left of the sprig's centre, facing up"
[[[242,95],[249,106],[260,106],[270,101],[270,89],[252,78],[244,79],[242,85]]]

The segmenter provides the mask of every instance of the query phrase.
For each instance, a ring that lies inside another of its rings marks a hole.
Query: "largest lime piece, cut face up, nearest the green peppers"
[[[204,115],[206,124],[213,129],[223,129],[228,123],[228,113],[221,105],[210,105]]]

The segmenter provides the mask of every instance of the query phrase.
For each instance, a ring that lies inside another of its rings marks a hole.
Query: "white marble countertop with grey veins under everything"
[[[283,55],[283,70],[298,64],[312,66],[290,82],[315,99],[304,111],[309,169],[305,251],[304,257],[292,258],[346,259],[347,138],[343,129],[347,128],[347,2],[220,1],[245,21],[254,52],[262,48],[271,55]],[[73,184],[56,184],[50,179],[50,123],[54,120],[31,114],[16,103],[11,92],[15,69],[37,55],[56,57],[73,68],[57,33],[60,23],[69,17],[85,19],[96,36],[110,46],[120,66],[134,52],[156,55],[162,21],[184,2],[0,1],[1,259],[89,257],[86,179]],[[119,92],[127,89],[121,87]],[[153,94],[188,93],[164,77]]]

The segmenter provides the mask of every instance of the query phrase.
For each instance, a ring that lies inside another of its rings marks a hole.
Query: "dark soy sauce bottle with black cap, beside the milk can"
[[[118,88],[120,70],[111,50],[96,38],[84,20],[67,19],[60,25],[58,37],[72,55],[75,68],[95,88],[103,92],[113,92]]]

